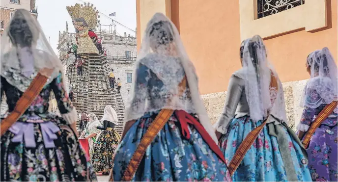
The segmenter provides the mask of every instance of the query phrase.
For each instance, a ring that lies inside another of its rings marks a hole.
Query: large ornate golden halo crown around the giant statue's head
[[[67,6],[67,11],[72,18],[72,20],[76,20],[78,18],[84,18],[89,28],[95,29],[100,22],[98,19],[100,18],[99,11],[96,10],[93,4],[78,4],[76,3],[74,6]],[[79,25],[79,24],[77,24]]]

